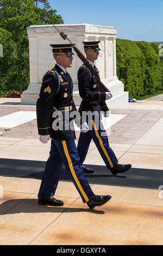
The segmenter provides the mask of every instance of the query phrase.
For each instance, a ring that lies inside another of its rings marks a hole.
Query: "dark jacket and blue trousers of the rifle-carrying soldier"
[[[89,117],[87,118],[89,131],[86,133],[80,132],[77,146],[80,162],[82,164],[84,163],[89,145],[93,139],[106,167],[110,169],[118,161],[114,151],[109,146],[108,136],[101,121],[101,111],[105,112],[109,110],[105,103],[106,94],[105,92],[101,92],[98,81],[91,75],[85,65],[81,66],[78,70],[78,87],[79,94],[83,99],[79,108],[80,114],[83,111],[97,112],[97,115],[95,115],[96,119],[94,116],[92,116],[91,120],[89,120]],[[91,123],[92,127],[90,126]]]

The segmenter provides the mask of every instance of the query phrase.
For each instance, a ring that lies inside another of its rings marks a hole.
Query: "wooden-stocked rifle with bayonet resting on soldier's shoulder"
[[[60,32],[60,31],[58,30],[58,28],[55,27],[54,25],[53,25],[53,27],[54,27],[55,29],[57,29],[57,31],[59,32],[60,36],[61,36],[64,40],[67,39],[67,40],[70,42],[70,44],[72,44],[72,42],[67,38],[67,35],[65,35],[64,32]],[[87,66],[87,68],[90,70],[91,74],[96,77],[96,79],[97,79],[97,81],[98,81],[98,84],[99,84],[99,87],[101,88],[102,92],[109,92],[109,93],[110,93],[110,90],[101,82],[100,77],[99,77],[99,71],[95,70],[95,69],[92,67],[92,65],[90,64],[90,62],[85,58],[84,54],[83,54],[82,52],[80,52],[80,50],[79,50],[76,46],[74,46],[73,44],[72,44],[72,48],[73,48],[73,50],[77,53],[77,56],[82,60],[82,62],[83,62],[83,63]]]

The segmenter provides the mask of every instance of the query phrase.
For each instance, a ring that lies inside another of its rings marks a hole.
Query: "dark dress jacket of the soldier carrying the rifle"
[[[98,81],[90,73],[90,70],[82,65],[78,70],[78,88],[82,102],[80,104],[79,112],[82,115],[83,111],[97,111],[100,118],[101,111],[108,111],[106,106],[105,92],[101,92],[98,86]]]

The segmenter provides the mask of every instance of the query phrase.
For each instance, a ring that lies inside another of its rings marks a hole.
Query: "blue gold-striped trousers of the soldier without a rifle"
[[[83,202],[85,203],[92,199],[95,194],[93,194],[91,187],[85,178],[74,140],[58,141],[53,138],[49,158],[43,172],[38,197],[54,196],[63,164],[70,174]]]

